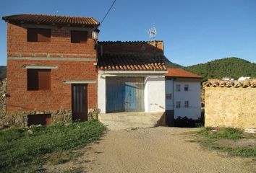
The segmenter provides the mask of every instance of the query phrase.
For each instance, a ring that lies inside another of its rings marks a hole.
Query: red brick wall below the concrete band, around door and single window
[[[23,64],[54,65],[51,69],[51,91],[27,91],[27,69]],[[85,61],[27,61],[9,60],[7,63],[7,111],[70,110],[71,84],[64,80],[94,80],[97,70],[93,62]],[[88,84],[88,108],[97,106],[97,84]]]

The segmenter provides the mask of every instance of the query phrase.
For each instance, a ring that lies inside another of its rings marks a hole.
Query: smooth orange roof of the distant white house
[[[182,68],[167,68],[167,70],[168,73],[166,74],[166,77],[202,78],[202,76],[185,71]]]

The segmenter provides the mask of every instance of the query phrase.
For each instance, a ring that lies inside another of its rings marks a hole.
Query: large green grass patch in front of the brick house
[[[90,120],[30,130],[14,128],[0,131],[0,172],[27,172],[27,167],[33,166],[33,172],[37,172],[40,167],[36,165],[44,164],[47,154],[65,153],[97,141],[105,127],[97,120]],[[61,164],[65,161],[59,158],[53,162]]]

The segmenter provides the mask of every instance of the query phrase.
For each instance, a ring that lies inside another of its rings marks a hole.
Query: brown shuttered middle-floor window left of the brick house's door
[[[50,90],[50,69],[27,69],[27,90]]]

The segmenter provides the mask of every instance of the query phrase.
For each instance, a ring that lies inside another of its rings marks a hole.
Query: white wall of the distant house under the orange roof
[[[174,82],[174,85],[173,85],[173,82]],[[181,85],[180,92],[176,92],[176,84]],[[189,91],[187,91],[187,92],[184,91],[185,84],[189,85]],[[172,88],[173,86],[174,86],[174,90]],[[197,119],[201,115],[200,92],[201,91],[200,91],[200,82],[199,81],[166,80],[166,93],[172,93],[171,100],[166,101],[166,110],[174,109],[174,118],[177,118],[179,116],[180,117],[187,116],[192,119]],[[189,101],[189,107],[184,107],[185,101]],[[176,108],[176,102],[181,102],[180,108]]]

